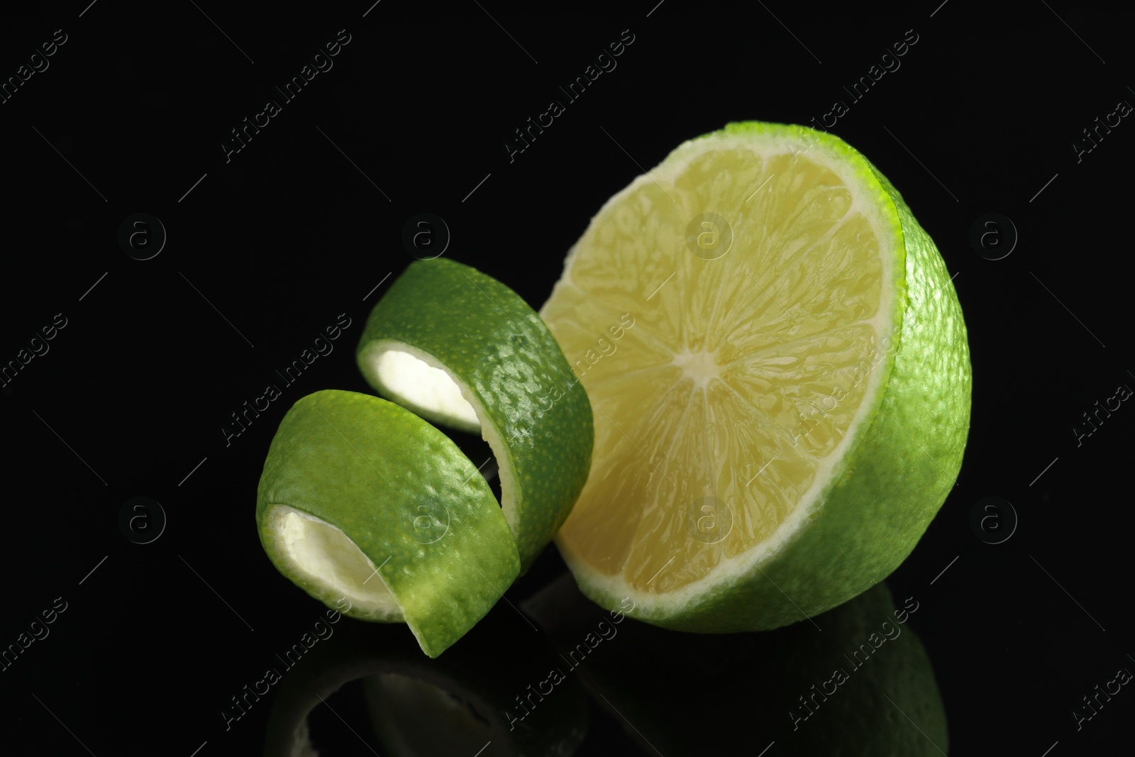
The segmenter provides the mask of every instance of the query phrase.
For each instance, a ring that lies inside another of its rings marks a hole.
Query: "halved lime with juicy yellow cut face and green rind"
[[[608,608],[689,631],[799,621],[885,578],[953,486],[957,295],[838,137],[748,123],[682,144],[596,215],[540,312],[575,364],[636,322],[582,373],[592,464],[556,537]],[[706,497],[731,511],[721,540],[688,528]]]

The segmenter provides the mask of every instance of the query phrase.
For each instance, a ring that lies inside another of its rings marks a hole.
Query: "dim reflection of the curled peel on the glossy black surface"
[[[368,746],[377,735],[376,751],[384,757],[473,755],[486,742],[491,745],[481,757],[568,757],[587,729],[587,698],[577,681],[561,684],[546,698],[543,712],[529,718],[531,727],[510,732],[503,717],[522,682],[556,658],[543,636],[512,633],[514,621],[487,616],[464,644],[437,659],[423,657],[392,626],[345,621],[334,639],[285,674],[269,714],[264,755],[314,757],[309,715],[361,679],[375,733],[358,723],[353,727]],[[333,700],[328,706],[342,713],[338,705]],[[319,733],[314,737],[320,740]]]

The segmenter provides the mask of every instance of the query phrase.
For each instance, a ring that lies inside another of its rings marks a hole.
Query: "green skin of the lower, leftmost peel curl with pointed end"
[[[439,430],[370,395],[323,390],[296,402],[280,421],[257,490],[257,530],[269,558],[340,609],[337,591],[288,557],[272,525],[276,506],[343,531],[377,567],[430,657],[484,617],[519,574],[512,535],[477,466]]]

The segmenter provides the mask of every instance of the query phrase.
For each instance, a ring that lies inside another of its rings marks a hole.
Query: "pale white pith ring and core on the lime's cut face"
[[[596,213],[596,218],[605,215],[612,205],[622,202],[627,196],[633,194],[645,185],[657,183],[667,188],[673,187],[674,179],[689,166],[690,161],[709,150],[721,148],[742,149],[768,159],[774,155],[792,154],[798,144],[799,137],[793,137],[791,134],[717,134],[688,142],[667,157],[663,166],[656,167],[647,176],[637,177],[628,187],[608,200],[604,208]],[[824,143],[813,144],[807,151],[807,157],[817,163],[826,166],[841,177],[852,199],[848,215],[860,213],[868,221],[876,239],[878,239],[878,255],[883,283],[878,310],[871,319],[859,322],[871,325],[875,333],[876,344],[881,344],[885,337],[892,336],[896,319],[900,318],[896,312],[897,303],[894,302],[894,292],[891,285],[897,275],[894,266],[896,251],[891,244],[896,238],[896,228],[893,219],[880,211],[878,193],[881,192],[881,187],[877,184],[865,184],[864,179],[849,163],[848,158],[831,150]],[[734,242],[735,246],[737,243]],[[575,262],[577,253],[578,250],[575,246],[569,251],[564,261],[564,274],[555,285],[553,294],[561,287],[574,288],[571,269]],[[546,305],[540,311],[541,316],[545,314],[545,310]],[[877,405],[877,398],[883,388],[882,381],[886,373],[884,369],[890,364],[891,358],[891,353],[884,355],[884,359],[869,371],[863,399],[857,409],[855,419],[847,429],[847,434],[829,454],[817,459],[817,468],[812,485],[798,499],[797,506],[766,539],[732,557],[723,554],[720,562],[706,575],[696,581],[670,591],[642,591],[633,588],[625,580],[623,570],[607,575],[603,571],[591,567],[582,557],[573,553],[563,538],[557,538],[557,546],[564,560],[571,566],[572,572],[577,577],[586,579],[586,582],[590,587],[609,597],[628,597],[637,606],[646,609],[646,615],[649,615],[651,614],[649,609],[651,607],[657,608],[658,614],[666,614],[671,611],[665,608],[678,608],[688,604],[692,605],[698,599],[704,598],[711,590],[726,586],[742,575],[760,569],[784,548],[787,542],[799,530],[801,523],[809,519],[822,503],[822,495],[839,474],[841,462],[848,448],[856,444],[864,429],[864,423],[871,420],[869,414]],[[692,379],[695,387],[703,390],[716,378],[717,368],[713,364],[713,356],[709,353],[674,354],[671,364],[681,368],[683,377]],[[631,550],[628,550],[627,554],[630,555]],[[625,562],[623,566],[625,569]]]

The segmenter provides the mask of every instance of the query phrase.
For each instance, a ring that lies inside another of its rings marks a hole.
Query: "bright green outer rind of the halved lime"
[[[833,135],[782,124],[730,124],[725,134],[772,134],[802,149],[819,144],[856,169],[897,239],[893,322],[883,345],[884,392],[855,431],[822,503],[780,547],[742,555],[750,564],[682,606],[640,603],[628,614],[679,631],[770,630],[827,611],[890,575],[914,550],[952,490],[969,431],[973,387],[961,305],[945,263],[898,190],[861,153]],[[704,135],[679,146],[697,150]],[[665,162],[665,161],[664,161]],[[561,549],[572,565],[573,557]],[[617,607],[623,592],[589,581],[582,591]],[[632,596],[633,598],[633,596]]]

